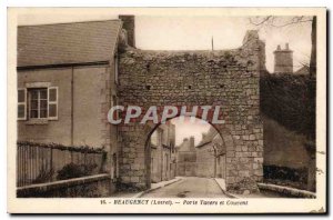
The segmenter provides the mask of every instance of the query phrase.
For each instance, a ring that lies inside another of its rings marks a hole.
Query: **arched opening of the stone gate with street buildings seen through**
[[[176,117],[152,128],[145,142],[147,187],[175,178],[226,177],[223,136],[210,122]]]

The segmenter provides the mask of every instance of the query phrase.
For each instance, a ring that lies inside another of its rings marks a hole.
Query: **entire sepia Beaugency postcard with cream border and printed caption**
[[[8,21],[9,212],[326,212],[326,9]]]

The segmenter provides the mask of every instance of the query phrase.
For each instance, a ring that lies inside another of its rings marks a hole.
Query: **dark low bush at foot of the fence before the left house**
[[[75,164],[75,163],[69,163],[64,166],[61,170],[58,171],[57,179],[58,180],[68,180],[72,178],[80,178],[93,174],[93,170],[98,166],[95,163],[93,164]]]

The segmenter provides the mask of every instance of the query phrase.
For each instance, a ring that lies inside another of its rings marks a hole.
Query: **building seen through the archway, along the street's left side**
[[[152,133],[151,144],[151,181],[160,182],[174,178],[174,124],[161,124]]]

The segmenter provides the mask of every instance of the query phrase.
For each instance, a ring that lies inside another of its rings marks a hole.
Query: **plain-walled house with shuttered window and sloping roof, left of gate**
[[[19,141],[104,147],[105,171],[118,177],[107,116],[117,103],[120,30],[120,20],[18,28]]]

